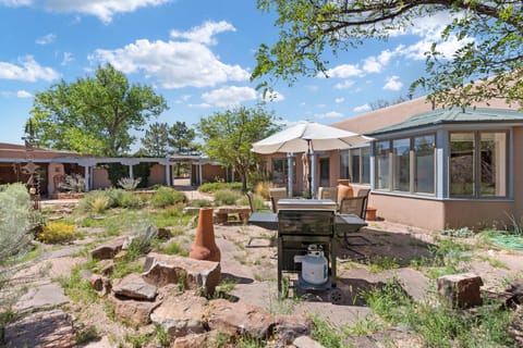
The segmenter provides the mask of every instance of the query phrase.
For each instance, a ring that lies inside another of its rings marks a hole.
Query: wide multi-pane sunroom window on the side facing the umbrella
[[[376,189],[435,194],[435,135],[376,142]]]

